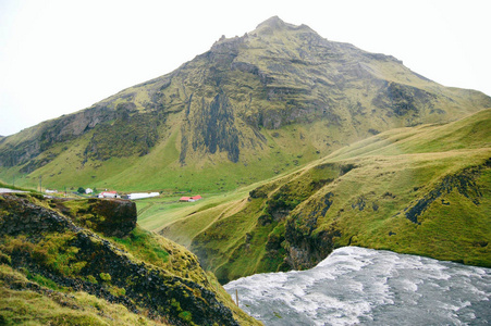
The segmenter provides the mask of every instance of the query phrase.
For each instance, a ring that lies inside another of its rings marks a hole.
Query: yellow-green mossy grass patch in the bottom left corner
[[[10,266],[0,264],[0,306],[9,308],[2,309],[0,314],[2,325],[157,324],[121,304],[109,303],[85,292],[60,292],[42,276],[30,277],[28,279]],[[167,323],[163,322],[163,325]]]

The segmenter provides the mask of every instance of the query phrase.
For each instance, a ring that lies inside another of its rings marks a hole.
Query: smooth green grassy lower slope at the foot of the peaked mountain
[[[88,159],[82,164],[81,158],[91,137],[89,133],[73,141],[65,150],[65,145],[53,148],[51,151],[60,153],[49,164],[30,174],[20,174],[19,168],[3,168],[0,178],[5,183],[15,179],[16,185],[36,188],[41,177],[44,188],[49,189],[77,189],[82,186],[120,191],[228,191],[318,159],[320,153],[308,142],[299,151],[290,142],[298,138],[304,127],[298,126],[298,131],[293,129],[290,127],[275,131],[275,137],[268,137],[263,154],[251,152],[243,163],[218,156],[186,165],[179,163],[179,131],[157,145],[147,155],[114,156],[103,162]],[[39,160],[44,160],[45,155],[50,155],[50,152],[41,154]]]

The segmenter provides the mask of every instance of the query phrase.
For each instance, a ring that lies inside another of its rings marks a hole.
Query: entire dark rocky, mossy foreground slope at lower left
[[[124,200],[0,195],[0,324],[260,325]]]

